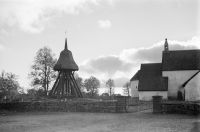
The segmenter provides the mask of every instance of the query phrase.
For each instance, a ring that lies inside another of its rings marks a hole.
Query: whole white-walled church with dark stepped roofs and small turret
[[[200,50],[169,50],[167,39],[162,63],[141,64],[131,78],[131,96],[151,100],[200,100]]]

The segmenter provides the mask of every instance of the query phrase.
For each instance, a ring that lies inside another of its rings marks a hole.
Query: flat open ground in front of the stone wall
[[[0,114],[0,132],[200,132],[200,116],[153,113]]]

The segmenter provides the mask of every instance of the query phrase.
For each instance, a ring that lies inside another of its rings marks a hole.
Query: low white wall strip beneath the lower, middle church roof
[[[167,99],[167,91],[139,91],[139,100],[149,101],[155,95],[163,96],[162,99]]]

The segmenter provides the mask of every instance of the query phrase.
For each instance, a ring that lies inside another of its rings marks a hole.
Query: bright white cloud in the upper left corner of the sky
[[[39,33],[57,16],[89,11],[87,3],[98,5],[97,0],[3,0],[0,1],[0,24]]]

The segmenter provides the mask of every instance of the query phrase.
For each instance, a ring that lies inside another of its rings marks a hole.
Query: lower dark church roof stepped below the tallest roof
[[[168,90],[168,78],[162,77],[162,63],[141,64],[138,90]]]

